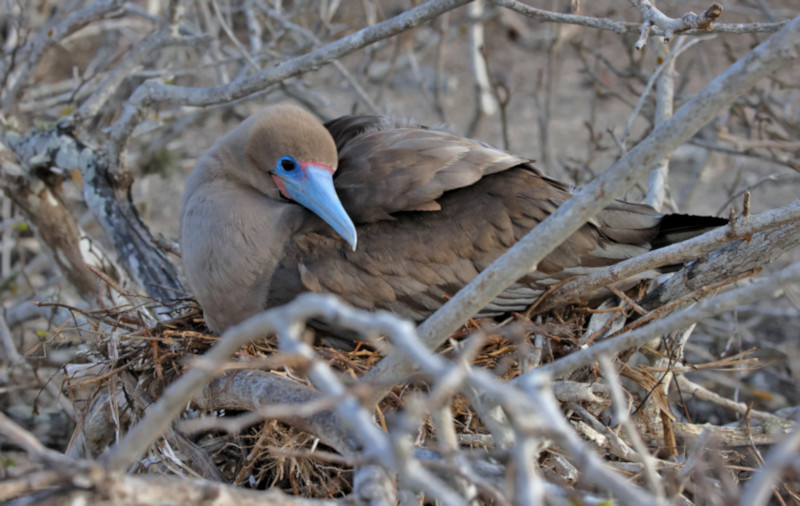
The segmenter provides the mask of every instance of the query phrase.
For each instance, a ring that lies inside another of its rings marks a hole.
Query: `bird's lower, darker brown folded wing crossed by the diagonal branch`
[[[401,211],[391,221],[361,223],[356,251],[326,229],[301,231],[273,272],[267,305],[304,291],[327,292],[422,320],[570,197],[563,185],[525,165],[441,192],[430,192],[441,195],[438,212]],[[647,251],[661,215],[626,206],[612,206],[584,225],[481,316],[523,310],[550,284]],[[630,244],[609,237],[617,232]]]

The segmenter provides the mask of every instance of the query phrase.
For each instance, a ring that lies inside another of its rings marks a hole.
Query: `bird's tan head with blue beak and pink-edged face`
[[[237,155],[255,171],[253,186],[268,197],[310,210],[355,250],[355,225],[333,186],[336,144],[319,120],[305,109],[280,104],[262,109],[242,126],[244,152]]]

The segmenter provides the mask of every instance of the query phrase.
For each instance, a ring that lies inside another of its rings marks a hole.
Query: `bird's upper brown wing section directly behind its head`
[[[325,126],[339,150],[336,191],[356,223],[438,211],[445,192],[529,163],[479,141],[378,116],[346,116]]]

